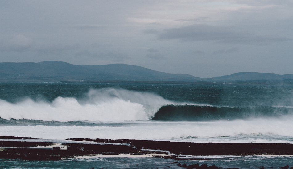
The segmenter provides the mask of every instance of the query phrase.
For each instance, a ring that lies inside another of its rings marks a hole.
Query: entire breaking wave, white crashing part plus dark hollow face
[[[293,107],[227,107],[178,103],[149,92],[91,89],[82,99],[57,97],[52,102],[0,100],[1,119],[42,121],[213,121],[291,115]],[[0,120],[1,120],[0,119]]]

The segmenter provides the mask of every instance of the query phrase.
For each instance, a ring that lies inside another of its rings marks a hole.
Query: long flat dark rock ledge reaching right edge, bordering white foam
[[[82,138],[71,138],[68,140],[87,140],[100,143],[127,143],[130,144],[130,147],[136,147],[138,149],[164,150],[170,151],[171,154],[182,155],[293,155],[293,145],[283,143],[183,143],[152,140]]]

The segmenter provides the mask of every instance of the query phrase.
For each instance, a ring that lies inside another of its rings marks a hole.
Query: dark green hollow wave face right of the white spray
[[[152,120],[214,121],[251,118],[272,118],[293,115],[290,106],[228,107],[211,105],[164,105]]]

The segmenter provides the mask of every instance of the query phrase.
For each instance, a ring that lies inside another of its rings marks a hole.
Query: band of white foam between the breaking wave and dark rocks
[[[0,136],[107,138],[197,143],[293,143],[291,120],[156,122],[97,126],[0,126]]]

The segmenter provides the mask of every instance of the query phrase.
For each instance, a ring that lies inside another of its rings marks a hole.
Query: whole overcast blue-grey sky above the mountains
[[[1,0],[0,62],[293,74],[292,0]]]

